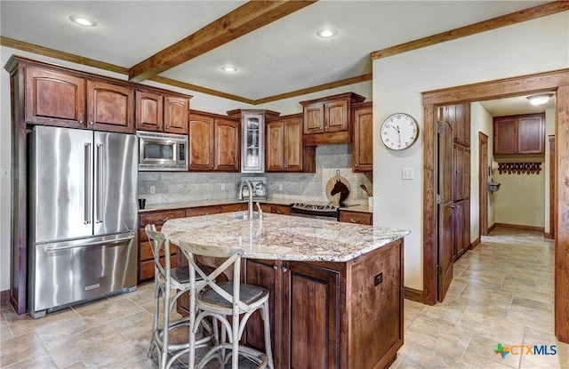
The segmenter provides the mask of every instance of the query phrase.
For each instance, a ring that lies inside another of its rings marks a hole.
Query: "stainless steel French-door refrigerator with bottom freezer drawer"
[[[36,125],[29,139],[31,316],[136,289],[136,136]]]

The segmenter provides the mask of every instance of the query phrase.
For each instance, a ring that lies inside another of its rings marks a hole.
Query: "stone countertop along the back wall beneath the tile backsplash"
[[[314,200],[307,199],[303,201],[302,199],[291,199],[291,198],[268,198],[266,200],[254,200],[256,203],[259,201],[260,204],[273,204],[273,205],[291,205],[293,203],[314,203]],[[214,206],[214,205],[228,205],[236,203],[246,203],[247,199],[239,200],[237,198],[217,198],[212,200],[196,200],[196,201],[183,201],[178,203],[164,203],[164,204],[151,204],[146,205],[144,209],[140,209],[139,213],[148,213],[159,210],[174,210],[174,209],[187,209],[190,207],[200,207],[200,206]],[[256,207],[255,207],[256,209]],[[346,207],[341,207],[341,211],[350,212],[362,212],[362,213],[373,213],[373,210],[369,208],[367,204],[357,204],[349,205]]]

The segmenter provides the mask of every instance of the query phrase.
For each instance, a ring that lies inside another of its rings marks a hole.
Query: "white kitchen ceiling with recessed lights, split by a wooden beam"
[[[259,100],[370,73],[371,52],[544,3],[321,0],[159,76]],[[2,0],[0,31],[18,41],[131,68],[242,4]],[[98,25],[77,26],[69,20],[73,14]],[[339,35],[317,37],[327,26]],[[239,70],[222,72],[228,64]]]

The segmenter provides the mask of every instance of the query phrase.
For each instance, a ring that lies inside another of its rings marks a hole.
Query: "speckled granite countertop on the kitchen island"
[[[235,213],[166,221],[162,231],[174,245],[180,240],[197,245],[244,248],[250,259],[346,262],[411,232],[340,221],[264,214],[262,220],[240,220]]]

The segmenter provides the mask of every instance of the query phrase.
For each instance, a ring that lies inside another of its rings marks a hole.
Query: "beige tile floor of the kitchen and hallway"
[[[569,368],[569,345],[552,333],[553,242],[521,229],[495,229],[482,241],[454,265],[443,303],[405,301],[405,345],[390,369]],[[146,357],[152,297],[153,285],[140,285],[41,319],[3,305],[0,367],[156,368],[156,354]],[[498,343],[556,345],[557,354],[502,358]]]

